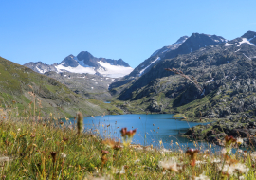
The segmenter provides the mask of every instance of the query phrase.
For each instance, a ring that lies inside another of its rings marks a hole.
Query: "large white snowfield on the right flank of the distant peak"
[[[98,70],[101,75],[104,77],[110,77],[110,78],[120,78],[125,75],[130,74],[134,69],[132,67],[124,67],[120,65],[112,65],[110,63],[104,63],[104,62],[98,62],[102,67],[104,67],[106,70],[100,68]]]

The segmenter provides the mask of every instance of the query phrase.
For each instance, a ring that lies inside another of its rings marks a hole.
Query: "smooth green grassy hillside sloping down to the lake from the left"
[[[115,106],[83,99],[59,81],[1,57],[0,72],[0,103],[6,110],[15,108],[17,113],[31,114],[35,99],[37,112],[40,111],[41,116],[52,113],[55,117],[74,117],[78,110],[84,116],[121,113]]]

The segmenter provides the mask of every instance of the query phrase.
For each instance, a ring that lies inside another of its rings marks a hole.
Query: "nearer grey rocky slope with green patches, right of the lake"
[[[247,38],[202,47],[157,63],[119,96],[152,112],[189,116],[252,117],[256,108],[256,46]],[[164,68],[182,71],[191,82]]]

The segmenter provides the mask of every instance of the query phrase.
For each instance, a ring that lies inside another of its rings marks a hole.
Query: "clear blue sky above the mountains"
[[[0,0],[0,56],[60,63],[69,54],[132,67],[193,32],[226,39],[256,31],[255,0]]]

